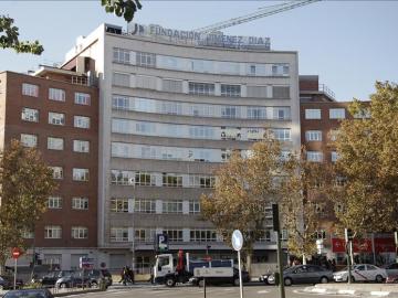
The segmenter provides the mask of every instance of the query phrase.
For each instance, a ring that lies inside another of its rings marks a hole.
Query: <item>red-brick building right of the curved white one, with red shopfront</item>
[[[335,162],[337,153],[333,141],[337,137],[343,119],[353,118],[348,111],[349,102],[336,102],[334,93],[318,84],[317,76],[300,76],[301,141],[306,148],[306,159],[314,162]],[[345,241],[333,233],[333,210],[326,205],[318,209],[324,219],[318,236],[324,240],[325,253],[342,263],[345,258]],[[366,236],[362,243],[354,243],[354,253],[363,262],[392,260],[395,243],[390,234]]]

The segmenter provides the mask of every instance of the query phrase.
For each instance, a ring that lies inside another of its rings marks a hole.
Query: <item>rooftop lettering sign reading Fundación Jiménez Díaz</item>
[[[222,32],[200,33],[196,31],[176,30],[163,28],[157,24],[143,25],[130,23],[127,25],[127,34],[161,39],[176,43],[185,43],[200,46],[220,46],[230,49],[265,50],[270,51],[270,38],[224,35]]]

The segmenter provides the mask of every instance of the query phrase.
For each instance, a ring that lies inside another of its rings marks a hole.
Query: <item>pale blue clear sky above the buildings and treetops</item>
[[[135,22],[195,29],[243,15],[275,1],[142,1]],[[0,50],[0,71],[27,72],[62,62],[78,35],[103,22],[100,0],[0,1],[0,14],[15,19],[21,39],[40,40],[42,56]],[[320,75],[338,100],[367,99],[375,81],[398,82],[398,2],[322,1],[224,30],[271,38],[273,50],[298,51],[300,74]]]

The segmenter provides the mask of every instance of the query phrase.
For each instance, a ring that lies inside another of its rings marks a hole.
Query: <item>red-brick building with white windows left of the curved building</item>
[[[35,76],[0,73],[0,147],[35,147],[59,182],[49,210],[27,232],[43,264],[78,266],[97,246],[97,88],[75,72],[43,66]],[[33,242],[34,237],[34,242]],[[32,260],[32,248],[20,265]]]

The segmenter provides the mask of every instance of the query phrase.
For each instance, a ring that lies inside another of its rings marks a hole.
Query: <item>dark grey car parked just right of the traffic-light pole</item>
[[[285,286],[293,284],[326,284],[333,280],[333,272],[317,265],[297,265],[283,270]],[[275,284],[275,276],[272,274],[269,284]]]

